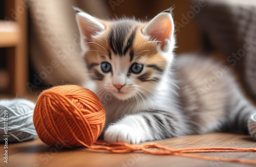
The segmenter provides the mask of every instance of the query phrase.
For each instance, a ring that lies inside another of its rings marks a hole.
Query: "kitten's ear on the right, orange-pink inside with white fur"
[[[166,9],[155,16],[142,30],[142,34],[150,36],[152,40],[161,42],[161,50],[168,51],[174,35],[174,21],[172,8]]]

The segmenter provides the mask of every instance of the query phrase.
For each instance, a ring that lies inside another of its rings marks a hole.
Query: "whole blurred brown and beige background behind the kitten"
[[[256,101],[254,0],[0,0],[0,98],[36,101],[43,89],[87,79],[72,6],[102,19],[148,20],[173,5],[177,55],[203,54],[228,65]]]

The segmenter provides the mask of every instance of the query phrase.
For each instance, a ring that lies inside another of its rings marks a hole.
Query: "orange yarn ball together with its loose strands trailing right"
[[[167,154],[211,161],[239,162],[256,165],[255,160],[216,158],[189,154],[205,152],[256,152],[256,148],[187,148],[170,149],[157,144],[131,145],[126,143],[96,142],[105,124],[105,110],[99,98],[90,90],[66,85],[53,87],[38,97],[33,122],[42,142],[72,148],[85,146],[109,150],[113,153],[143,151],[149,154]],[[155,148],[155,149],[152,149]]]

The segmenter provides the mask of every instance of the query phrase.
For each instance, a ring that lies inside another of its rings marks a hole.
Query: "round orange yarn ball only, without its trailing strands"
[[[104,127],[105,110],[92,91],[58,86],[40,94],[33,121],[40,140],[49,146],[90,146]]]

